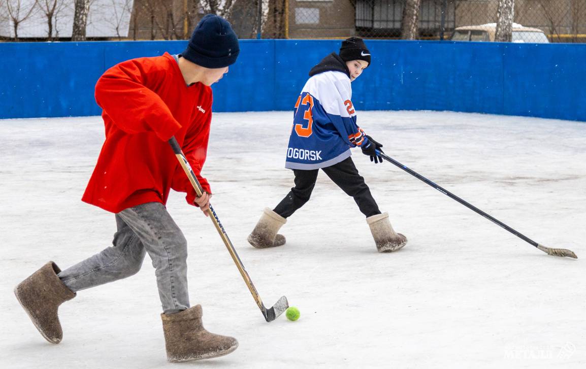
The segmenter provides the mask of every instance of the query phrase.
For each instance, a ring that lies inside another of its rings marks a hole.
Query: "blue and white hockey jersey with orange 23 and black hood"
[[[356,125],[349,73],[342,71],[347,70],[345,63],[335,53],[316,67],[324,69],[324,62],[337,65],[314,74],[302,88],[295,103],[285,168],[325,168],[352,155],[351,147],[366,143]]]

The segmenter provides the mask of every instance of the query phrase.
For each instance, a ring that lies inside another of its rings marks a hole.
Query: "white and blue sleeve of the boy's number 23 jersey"
[[[362,128],[356,124],[356,111],[350,100],[350,81],[338,80],[333,86],[329,83],[327,88],[322,104],[328,118],[350,147],[362,146],[367,139]]]

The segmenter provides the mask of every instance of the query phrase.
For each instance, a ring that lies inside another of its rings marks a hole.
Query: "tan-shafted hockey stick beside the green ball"
[[[195,173],[193,173],[193,169],[191,168],[191,165],[189,165],[189,162],[185,158],[185,155],[183,154],[183,151],[181,150],[181,147],[179,146],[179,143],[177,142],[175,137],[172,137],[171,139],[169,139],[169,144],[171,145],[171,148],[173,148],[173,152],[175,152],[175,156],[177,157],[177,160],[179,160],[179,163],[181,164],[183,170],[185,170],[185,174],[188,176],[189,182],[191,182],[191,184],[193,185],[193,189],[195,189],[195,192],[197,193],[197,197],[202,196],[202,194],[203,194],[202,186],[201,186],[201,184],[199,184],[199,181],[197,180]],[[248,286],[250,293],[253,294],[253,298],[256,301],[258,308],[263,313],[264,319],[267,320],[267,322],[272,322],[273,320],[275,320],[277,318],[277,316],[280,316],[289,307],[289,303],[287,302],[287,298],[285,296],[282,296],[277,301],[277,303],[275,303],[275,305],[272,306],[272,308],[270,308],[270,309],[265,308],[263,300],[261,300],[260,296],[258,296],[258,291],[254,287],[253,281],[251,281],[250,276],[248,275],[248,272],[246,271],[246,269],[244,269],[244,265],[242,264],[240,257],[236,253],[236,250],[234,249],[234,245],[230,241],[230,238],[228,238],[228,235],[226,234],[226,231],[224,230],[222,223],[220,223],[220,219],[216,215],[216,211],[214,211],[214,208],[212,207],[212,205],[210,205],[210,209],[207,210],[207,214],[212,219],[214,226],[216,226],[216,230],[220,234],[220,237],[222,237],[222,241],[224,241],[224,245],[226,245],[228,252],[230,252],[230,256],[234,260],[234,264],[236,264],[236,267],[240,271],[242,278],[244,278],[244,282]]]

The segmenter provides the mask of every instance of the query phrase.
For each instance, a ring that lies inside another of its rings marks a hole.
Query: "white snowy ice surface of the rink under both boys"
[[[551,257],[390,163],[353,159],[407,246],[376,252],[354,201],[323,173],[282,228],[246,241],[292,186],[290,112],[215,114],[203,175],[265,305],[266,323],[212,222],[173,193],[190,244],[192,304],[234,353],[206,368],[584,368],[586,123],[453,112],[359,112],[386,153],[548,247]],[[100,117],[0,121],[0,367],[162,368],[160,303],[148,256],[135,276],[81,291],[47,343],[12,294],[48,260],[61,268],[111,244],[114,216],[80,201],[103,142]],[[185,364],[184,364],[185,365]]]

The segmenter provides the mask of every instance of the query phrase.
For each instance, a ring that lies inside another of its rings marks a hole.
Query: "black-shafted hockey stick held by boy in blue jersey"
[[[446,189],[438,186],[437,184],[431,182],[431,180],[425,178],[424,176],[421,176],[419,173],[415,172],[414,170],[411,170],[411,169],[407,168],[403,164],[397,162],[397,160],[394,160],[393,158],[390,158],[389,156],[384,155],[384,153],[380,152],[379,150],[377,150],[376,152],[377,152],[377,155],[381,156],[381,158],[383,158],[384,160],[387,160],[387,161],[393,163],[394,165],[396,165],[399,168],[403,169],[405,172],[409,173],[410,175],[416,177],[417,179],[422,180],[423,182],[429,184],[431,187],[434,187],[434,189],[438,190],[439,192],[441,192],[441,193],[443,193],[443,194],[451,197],[452,199],[458,201],[459,203],[461,203],[462,205],[464,205],[468,209],[471,209],[473,211],[476,211],[476,213],[481,214],[481,216],[483,216],[486,219],[492,221],[492,223],[495,223],[498,226],[500,226],[502,228],[505,228],[510,233],[512,233],[512,234],[516,235],[517,237],[521,238],[523,241],[529,242],[534,247],[539,248],[539,250],[545,252],[546,254],[548,254],[548,255],[554,255],[554,256],[558,256],[558,257],[570,257],[570,258],[574,258],[574,259],[577,259],[578,258],[576,256],[576,254],[574,254],[574,251],[567,250],[565,248],[550,248],[550,247],[546,247],[544,245],[538,244],[537,242],[533,241],[529,237],[526,237],[523,234],[520,234],[519,232],[517,232],[516,230],[514,230],[513,228],[507,226],[505,223],[502,223],[498,219],[489,216],[484,211],[478,209],[477,207],[473,206],[472,204],[469,204],[468,202],[460,199],[455,194],[453,194],[453,193],[449,192],[448,190],[446,190]]]

